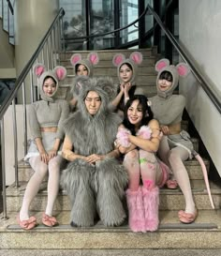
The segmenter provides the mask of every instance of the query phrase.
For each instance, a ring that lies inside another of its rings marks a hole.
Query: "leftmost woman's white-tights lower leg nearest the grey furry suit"
[[[48,179],[48,202],[45,213],[52,216],[53,204],[56,200],[59,190],[60,167],[63,158],[56,156],[49,161],[49,179]]]

